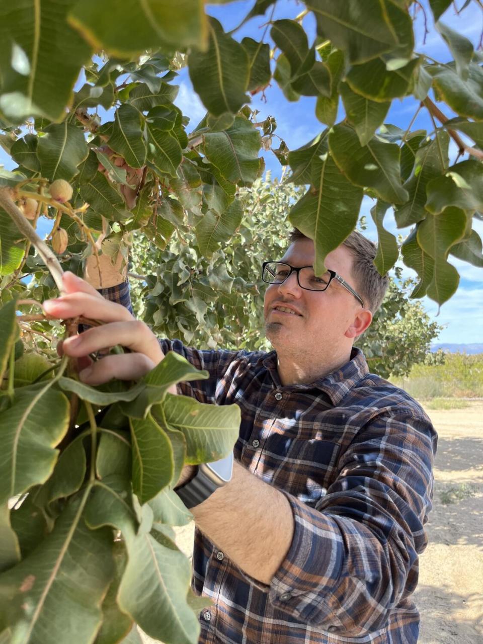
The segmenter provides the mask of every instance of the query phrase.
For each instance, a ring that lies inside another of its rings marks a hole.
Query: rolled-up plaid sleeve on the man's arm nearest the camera
[[[265,587],[272,605],[343,636],[383,627],[417,583],[435,448],[429,419],[398,410],[357,432],[315,507],[281,490],[294,536]]]

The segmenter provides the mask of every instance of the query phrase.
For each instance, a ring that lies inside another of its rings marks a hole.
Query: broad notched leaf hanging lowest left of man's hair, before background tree
[[[207,211],[194,229],[202,254],[210,258],[220,244],[228,242],[242,223],[242,218],[243,208],[239,199],[234,200],[221,214],[214,210]]]

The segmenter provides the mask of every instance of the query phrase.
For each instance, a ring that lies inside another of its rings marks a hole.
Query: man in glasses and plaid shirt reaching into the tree
[[[192,509],[193,585],[214,601],[200,615],[201,642],[414,644],[410,595],[426,545],[435,432],[352,347],[386,290],[374,244],[352,233],[316,278],[313,242],[298,231],[290,241],[264,271],[269,354],[158,343],[72,274],[67,295],[44,308],[107,323],[64,341],[84,365],[90,352],[131,349],[82,370],[86,383],[140,377],[175,350],[210,374],[179,393],[241,408],[232,480]],[[193,474],[185,468],[180,484]]]

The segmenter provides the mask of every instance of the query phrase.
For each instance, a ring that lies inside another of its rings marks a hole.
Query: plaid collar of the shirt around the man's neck
[[[261,363],[270,373],[272,381],[276,388],[282,388],[280,377],[277,370],[277,354],[271,351],[261,359]],[[369,373],[363,352],[354,346],[350,354],[350,360],[340,369],[328,374],[313,383],[308,384],[290,384],[287,387],[297,391],[308,391],[319,389],[327,393],[332,404],[337,405],[343,397],[354,388],[355,384]]]

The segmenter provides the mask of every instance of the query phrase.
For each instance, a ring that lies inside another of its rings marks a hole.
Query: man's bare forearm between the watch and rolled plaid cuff
[[[289,501],[238,462],[232,480],[191,509],[196,526],[246,574],[269,584],[294,534]]]

